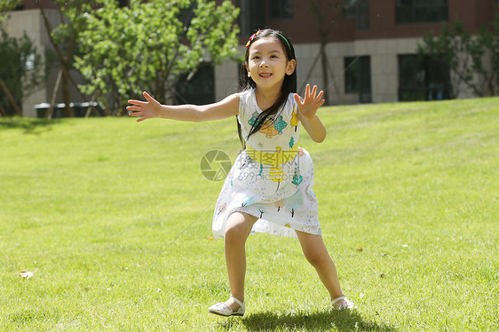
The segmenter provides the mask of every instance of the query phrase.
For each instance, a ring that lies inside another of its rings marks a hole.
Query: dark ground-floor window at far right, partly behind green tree
[[[399,100],[450,98],[450,70],[432,57],[399,55]]]

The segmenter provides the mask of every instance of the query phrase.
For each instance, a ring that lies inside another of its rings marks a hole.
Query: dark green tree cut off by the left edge
[[[10,115],[11,112],[5,110],[10,105],[22,116],[22,100],[44,82],[42,57],[26,34],[20,38],[10,37],[0,26],[0,63],[8,64],[0,67],[0,113]]]

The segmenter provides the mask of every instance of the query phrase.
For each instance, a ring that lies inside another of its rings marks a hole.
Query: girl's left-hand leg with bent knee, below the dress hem
[[[225,234],[225,252],[227,273],[231,294],[244,302],[244,277],[246,274],[246,239],[257,217],[244,212],[234,212],[227,219]],[[226,304],[233,310],[239,308],[233,300]]]

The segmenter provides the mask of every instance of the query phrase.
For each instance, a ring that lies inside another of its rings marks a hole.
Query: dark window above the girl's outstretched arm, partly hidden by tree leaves
[[[215,102],[215,69],[203,64],[195,73],[183,75],[176,86],[179,104],[204,105]]]

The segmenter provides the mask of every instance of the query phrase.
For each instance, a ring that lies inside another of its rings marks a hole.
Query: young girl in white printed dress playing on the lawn
[[[213,217],[216,238],[225,237],[226,266],[231,297],[210,306],[209,312],[242,316],[245,243],[249,233],[263,232],[298,238],[305,257],[328,289],[331,305],[351,309],[343,294],[336,267],[321,238],[317,199],[313,194],[313,162],[297,146],[300,123],[315,142],[326,129],[316,115],[324,103],[322,91],[306,86],[297,93],[297,59],[289,38],[265,29],[246,44],[243,91],[204,106],[161,105],[147,92],[147,101],[130,100],[127,107],[138,122],[160,117],[179,121],[210,121],[237,116],[245,149],[238,155],[218,197]],[[247,75],[246,75],[247,74]]]

